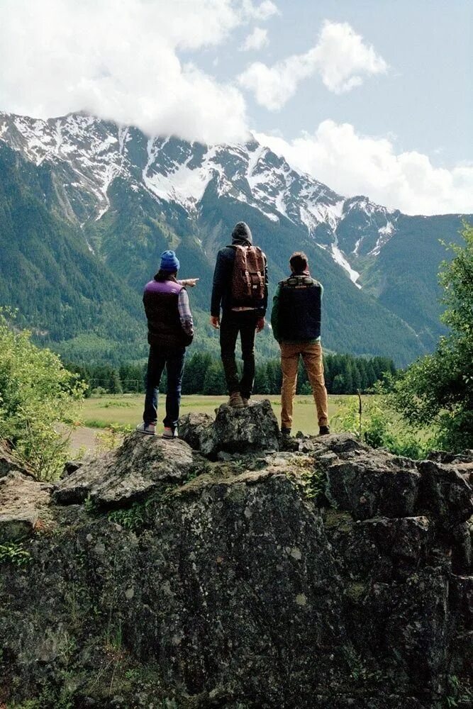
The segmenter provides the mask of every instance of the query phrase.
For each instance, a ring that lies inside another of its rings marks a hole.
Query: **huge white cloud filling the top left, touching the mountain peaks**
[[[148,133],[242,140],[238,88],[177,52],[274,12],[248,0],[1,0],[0,108],[43,118],[84,109]]]

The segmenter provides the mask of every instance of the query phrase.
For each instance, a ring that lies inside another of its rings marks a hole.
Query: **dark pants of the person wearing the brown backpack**
[[[260,316],[255,311],[224,311],[220,325],[220,350],[228,393],[239,391],[250,398],[255,381],[255,333]],[[240,333],[243,376],[238,379],[235,347]]]

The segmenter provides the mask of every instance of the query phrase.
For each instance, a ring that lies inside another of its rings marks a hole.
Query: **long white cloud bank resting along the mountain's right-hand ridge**
[[[291,142],[255,137],[340,194],[364,194],[407,214],[473,213],[473,164],[435,167],[420,152],[396,153],[392,138],[358,135],[349,123],[334,121]]]

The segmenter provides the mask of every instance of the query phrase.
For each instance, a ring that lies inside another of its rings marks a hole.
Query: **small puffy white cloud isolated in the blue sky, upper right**
[[[362,84],[363,77],[386,72],[387,65],[347,23],[325,21],[318,43],[305,54],[292,55],[268,67],[254,62],[238,77],[240,86],[253,91],[261,106],[282,108],[301,81],[320,74],[323,84],[340,94]]]

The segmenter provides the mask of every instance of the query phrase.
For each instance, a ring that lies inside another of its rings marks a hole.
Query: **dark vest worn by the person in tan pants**
[[[321,335],[321,284],[305,274],[293,274],[279,285],[279,340],[316,340]]]

